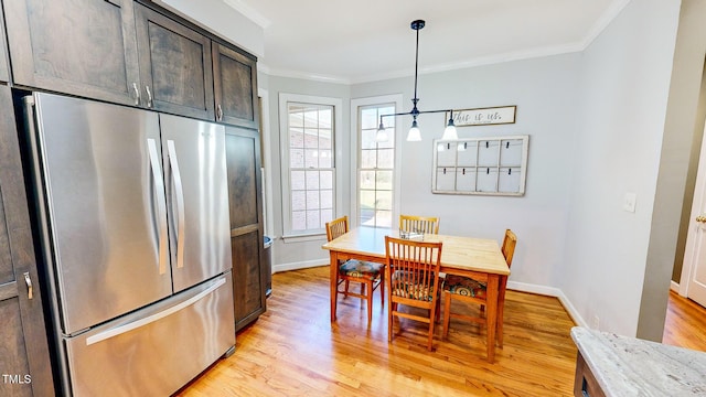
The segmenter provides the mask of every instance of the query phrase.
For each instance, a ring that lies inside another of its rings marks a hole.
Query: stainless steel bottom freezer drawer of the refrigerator
[[[235,345],[231,272],[66,339],[74,396],[169,396]]]

